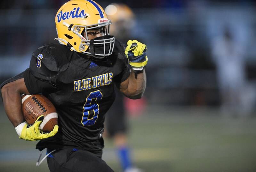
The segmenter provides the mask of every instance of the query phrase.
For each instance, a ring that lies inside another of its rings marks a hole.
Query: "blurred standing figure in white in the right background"
[[[242,115],[243,94],[246,83],[244,47],[231,26],[224,27],[222,34],[212,44],[212,57],[217,68],[221,95],[221,111],[225,115]]]

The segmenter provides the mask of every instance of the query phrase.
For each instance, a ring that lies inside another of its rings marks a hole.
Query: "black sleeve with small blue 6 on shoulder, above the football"
[[[25,85],[31,94],[52,93],[58,90],[58,65],[52,53],[41,47],[31,57],[29,69],[24,73]]]

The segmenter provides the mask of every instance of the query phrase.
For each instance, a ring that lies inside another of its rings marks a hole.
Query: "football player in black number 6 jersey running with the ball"
[[[92,0],[68,1],[55,23],[60,44],[37,49],[29,68],[0,86],[6,114],[21,139],[40,140],[36,148],[47,148],[50,171],[113,171],[101,159],[105,113],[115,99],[114,85],[131,99],[144,93],[146,45],[129,40],[124,46],[109,35],[111,21]],[[23,93],[48,97],[59,126],[42,133],[43,116],[27,125]]]

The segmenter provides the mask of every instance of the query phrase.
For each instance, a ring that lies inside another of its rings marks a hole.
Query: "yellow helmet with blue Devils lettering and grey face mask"
[[[60,44],[97,58],[112,54],[115,37],[109,35],[111,21],[102,7],[92,0],[71,0],[62,5],[55,17]],[[88,39],[87,30],[101,29],[102,36]],[[84,37],[85,35],[85,37]]]

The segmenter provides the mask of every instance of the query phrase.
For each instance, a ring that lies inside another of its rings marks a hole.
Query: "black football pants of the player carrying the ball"
[[[74,148],[57,150],[47,156],[51,172],[114,172],[95,154]]]

